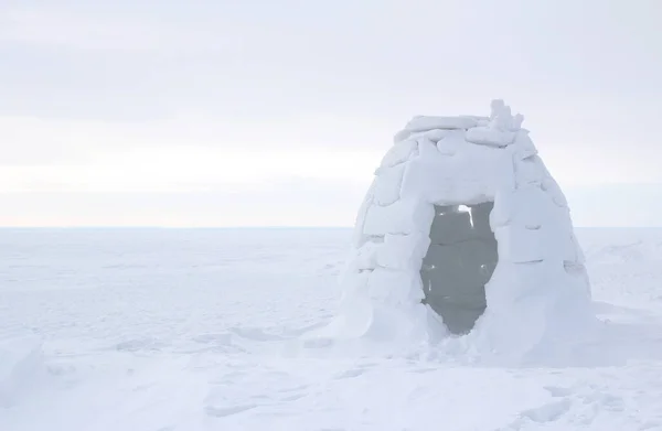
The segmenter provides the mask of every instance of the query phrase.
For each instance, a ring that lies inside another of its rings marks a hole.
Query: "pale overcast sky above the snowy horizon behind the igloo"
[[[579,226],[660,226],[659,0],[0,0],[0,226],[351,226],[503,98]]]

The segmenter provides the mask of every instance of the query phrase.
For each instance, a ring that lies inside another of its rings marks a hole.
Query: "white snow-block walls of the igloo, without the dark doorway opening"
[[[493,100],[489,118],[417,116],[396,133],[359,211],[339,316],[310,340],[401,349],[444,337],[419,273],[435,205],[484,202],[499,263],[485,312],[459,342],[482,360],[548,362],[588,336],[596,322],[570,209],[523,119]]]

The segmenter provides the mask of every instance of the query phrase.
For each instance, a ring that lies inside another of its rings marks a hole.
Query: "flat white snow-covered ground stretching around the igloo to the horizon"
[[[297,343],[350,229],[1,230],[0,430],[662,430],[662,229],[577,234],[605,323],[515,367]]]

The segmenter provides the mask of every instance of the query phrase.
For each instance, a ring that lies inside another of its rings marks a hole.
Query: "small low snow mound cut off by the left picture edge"
[[[0,408],[12,406],[42,370],[38,337],[0,340]]]

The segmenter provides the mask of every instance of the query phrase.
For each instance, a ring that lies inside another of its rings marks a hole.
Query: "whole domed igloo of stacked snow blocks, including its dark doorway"
[[[489,117],[414,117],[359,211],[333,337],[478,337],[528,349],[589,317],[568,203],[522,128]]]

